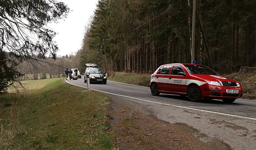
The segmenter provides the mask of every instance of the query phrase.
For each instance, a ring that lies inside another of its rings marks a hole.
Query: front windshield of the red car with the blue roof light
[[[212,69],[201,65],[184,65],[190,74],[219,75]]]

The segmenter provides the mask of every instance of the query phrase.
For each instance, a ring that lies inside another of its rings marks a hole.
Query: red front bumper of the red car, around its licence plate
[[[200,86],[201,94],[203,98],[209,99],[230,99],[241,98],[243,96],[242,87],[224,87],[204,84]],[[238,93],[226,93],[226,89],[237,89]]]

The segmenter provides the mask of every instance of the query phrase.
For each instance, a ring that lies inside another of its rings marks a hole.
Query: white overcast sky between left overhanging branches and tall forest
[[[65,20],[48,26],[58,34],[54,38],[59,47],[57,55],[64,56],[81,48],[84,26],[93,15],[98,0],[58,0],[68,5],[70,13]]]

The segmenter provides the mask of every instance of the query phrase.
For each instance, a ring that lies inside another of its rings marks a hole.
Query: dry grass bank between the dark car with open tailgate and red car
[[[149,87],[150,75],[151,74],[115,72],[108,76],[108,80]]]

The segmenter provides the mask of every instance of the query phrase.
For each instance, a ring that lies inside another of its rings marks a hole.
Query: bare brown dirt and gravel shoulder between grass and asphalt
[[[120,147],[121,150],[231,149],[227,144],[216,139],[209,138],[210,142],[205,143],[199,139],[200,133],[193,127],[159,120],[152,113],[145,113],[145,108],[134,102],[127,102],[115,96],[111,96],[111,100],[110,130],[115,135],[116,148]]]

